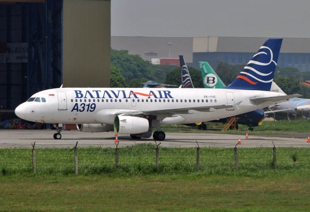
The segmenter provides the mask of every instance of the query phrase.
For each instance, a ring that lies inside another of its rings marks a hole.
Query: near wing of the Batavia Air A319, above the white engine
[[[139,115],[139,114],[146,114],[146,115],[158,115],[158,114],[189,114],[189,110],[196,110],[201,112],[213,112],[219,109],[225,108],[233,108],[233,105],[214,105],[214,106],[207,106],[207,107],[187,107],[187,108],[173,108],[173,109],[165,109],[165,110],[156,110],[156,111],[120,111],[115,113],[115,115]]]

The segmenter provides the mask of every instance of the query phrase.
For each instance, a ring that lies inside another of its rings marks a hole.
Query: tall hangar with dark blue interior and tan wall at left
[[[0,0],[2,112],[61,84],[109,87],[109,64],[110,0]]]

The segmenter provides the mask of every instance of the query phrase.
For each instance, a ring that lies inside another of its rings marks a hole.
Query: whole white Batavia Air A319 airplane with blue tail
[[[18,117],[41,123],[77,124],[82,131],[110,131],[132,138],[165,139],[165,124],[210,121],[300,97],[270,92],[282,39],[268,39],[225,89],[54,88],[16,107]],[[85,124],[87,123],[87,124]],[[54,139],[61,139],[61,128]]]

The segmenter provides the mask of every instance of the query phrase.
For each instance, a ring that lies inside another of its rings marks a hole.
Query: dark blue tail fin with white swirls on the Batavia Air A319
[[[228,89],[270,91],[275,76],[282,39],[268,39]]]

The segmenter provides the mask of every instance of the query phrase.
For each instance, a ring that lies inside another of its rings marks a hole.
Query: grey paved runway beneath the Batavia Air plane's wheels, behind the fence
[[[78,147],[101,146],[115,147],[115,136],[113,132],[80,132],[78,130],[62,131],[62,139],[53,138],[54,130],[0,130],[0,147],[31,147],[31,143],[36,142],[36,147],[74,147],[78,142]],[[245,135],[229,135],[215,133],[166,133],[166,139],[161,143],[162,147],[234,147],[238,138],[241,145],[238,147],[310,147],[305,138],[280,138],[264,137],[249,134],[249,139]],[[130,136],[118,136],[119,147],[134,144],[151,143],[155,144],[152,138],[133,140]],[[196,143],[197,142],[197,143]]]

